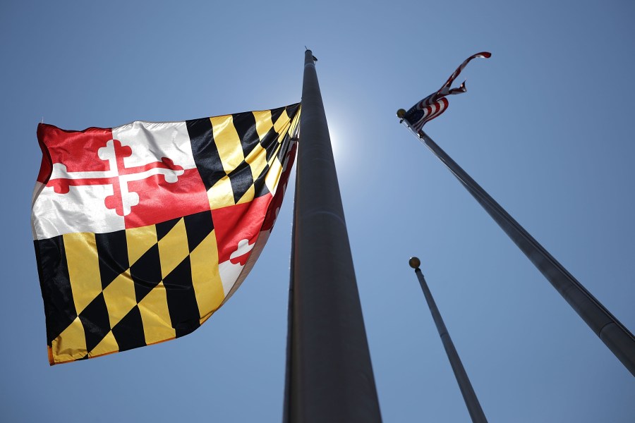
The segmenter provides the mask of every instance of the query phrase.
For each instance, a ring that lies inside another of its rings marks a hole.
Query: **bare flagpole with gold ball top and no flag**
[[[463,399],[465,400],[465,405],[468,408],[468,412],[470,413],[470,417],[473,423],[488,423],[488,419],[485,418],[485,413],[483,413],[483,409],[480,407],[480,403],[478,402],[478,398],[476,398],[476,393],[472,388],[472,384],[470,383],[470,379],[465,372],[465,368],[461,363],[461,358],[459,358],[459,353],[456,353],[456,348],[454,348],[454,343],[452,342],[452,338],[449,336],[449,332],[443,323],[443,319],[441,317],[441,313],[437,308],[437,304],[435,303],[435,299],[430,293],[430,288],[428,288],[428,283],[425,283],[425,278],[423,277],[423,273],[421,273],[421,261],[417,257],[411,257],[408,264],[415,269],[415,274],[419,280],[419,284],[421,284],[421,289],[423,290],[423,295],[425,296],[425,301],[428,302],[428,307],[430,307],[430,314],[433,316],[433,320],[435,321],[435,325],[437,326],[437,331],[439,331],[439,336],[441,337],[441,342],[443,343],[443,348],[445,348],[445,353],[447,354],[447,358],[452,366],[452,371],[454,372],[454,377],[456,377],[456,382],[459,384],[459,389],[461,389],[461,394],[463,395]]]

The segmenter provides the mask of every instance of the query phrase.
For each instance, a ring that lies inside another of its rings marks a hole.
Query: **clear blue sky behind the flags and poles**
[[[55,367],[30,201],[40,121],[80,130],[291,104],[306,45],[384,421],[469,419],[411,255],[490,422],[635,421],[635,378],[395,117],[491,51],[425,130],[634,331],[632,1],[214,3],[0,4],[0,419],[282,420],[293,184],[252,273],[200,329]]]

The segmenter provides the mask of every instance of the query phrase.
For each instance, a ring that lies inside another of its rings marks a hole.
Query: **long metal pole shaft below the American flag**
[[[545,250],[475,180],[452,160],[426,133],[419,132],[425,145],[437,156],[485,209],[498,226],[567,300],[583,321],[635,376],[635,337],[567,269]]]

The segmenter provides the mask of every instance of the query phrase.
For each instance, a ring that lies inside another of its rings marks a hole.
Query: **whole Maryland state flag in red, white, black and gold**
[[[178,338],[223,305],[272,230],[299,116],[40,124],[31,219],[49,362]]]

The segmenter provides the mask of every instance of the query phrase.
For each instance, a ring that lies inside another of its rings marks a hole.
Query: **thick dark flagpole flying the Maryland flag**
[[[285,422],[381,422],[329,129],[305,52]]]

